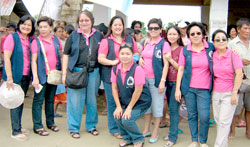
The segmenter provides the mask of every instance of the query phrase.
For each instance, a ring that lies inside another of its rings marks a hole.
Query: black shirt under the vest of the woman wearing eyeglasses
[[[70,55],[71,53],[71,45],[72,45],[72,35],[69,36],[69,38],[66,41],[65,47],[64,47],[64,54],[65,55]],[[87,52],[86,52],[87,50]],[[80,44],[79,44],[79,56],[77,59],[77,62],[75,64],[75,67],[85,67],[87,66],[87,62],[88,62],[88,50],[89,47],[86,44],[86,40],[83,37],[82,34],[80,34]],[[87,54],[86,54],[87,53]]]

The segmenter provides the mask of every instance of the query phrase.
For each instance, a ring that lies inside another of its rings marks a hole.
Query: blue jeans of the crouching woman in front
[[[123,112],[125,112],[125,109],[123,109]],[[144,136],[136,124],[136,120],[138,120],[144,112],[141,110],[132,110],[131,118],[129,120],[125,120],[124,118],[120,118],[119,120],[115,119],[117,125],[119,126],[122,139],[127,144],[138,144],[144,142]]]

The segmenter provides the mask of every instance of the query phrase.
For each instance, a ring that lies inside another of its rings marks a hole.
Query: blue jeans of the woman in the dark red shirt
[[[167,99],[170,114],[170,128],[168,134],[168,140],[176,143],[178,138],[178,125],[179,125],[179,107],[180,103],[175,100],[175,87],[176,82],[167,83]]]

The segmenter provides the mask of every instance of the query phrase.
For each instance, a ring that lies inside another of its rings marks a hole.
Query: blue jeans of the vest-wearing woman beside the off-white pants
[[[198,141],[199,132],[200,143],[206,143],[210,119],[211,93],[207,89],[189,88],[184,98],[188,111],[188,124],[192,141]],[[200,119],[199,130],[198,118]]]

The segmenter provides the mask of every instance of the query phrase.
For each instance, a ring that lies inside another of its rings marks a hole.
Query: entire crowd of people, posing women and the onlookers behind
[[[144,138],[155,143],[161,135],[166,135],[164,147],[174,146],[183,133],[182,119],[188,120],[189,147],[207,147],[213,123],[217,125],[215,147],[227,147],[236,126],[246,127],[250,139],[250,95],[241,91],[243,79],[250,78],[249,19],[239,19],[227,32],[210,32],[212,42],[207,25],[200,22],[181,21],[164,30],[162,20],[152,18],[143,36],[140,21],[125,28],[123,18],[114,16],[108,26],[94,26],[93,14],[84,10],[77,24],[74,28],[62,21],[54,27],[46,16],[35,24],[25,15],[17,25],[0,28],[6,32],[1,38],[1,59],[7,88],[15,83],[26,94],[30,83],[34,87],[34,133],[49,135],[42,124],[44,102],[48,129],[60,131],[54,119],[62,117],[57,108],[64,104],[68,132],[79,139],[85,106],[85,129],[99,135],[97,95],[102,83],[108,130],[121,139],[120,147],[142,147]],[[61,71],[60,84],[49,82],[53,70]],[[20,141],[27,140],[29,133],[22,128],[22,111],[23,104],[10,110],[11,137]],[[215,121],[210,120],[212,112]],[[142,116],[144,127],[139,127],[136,121]],[[167,126],[168,135],[160,134],[159,128]]]

